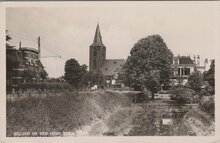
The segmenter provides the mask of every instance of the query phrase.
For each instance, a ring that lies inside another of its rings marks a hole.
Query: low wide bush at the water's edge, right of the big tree
[[[193,90],[184,86],[174,86],[171,91],[171,99],[179,104],[193,102]]]

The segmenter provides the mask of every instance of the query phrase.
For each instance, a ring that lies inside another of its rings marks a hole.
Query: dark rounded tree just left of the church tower
[[[75,59],[69,59],[65,64],[64,79],[76,89],[82,78],[82,67]]]

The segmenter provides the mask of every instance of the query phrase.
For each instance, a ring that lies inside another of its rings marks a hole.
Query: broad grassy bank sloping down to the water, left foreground
[[[126,96],[113,91],[66,91],[61,96],[7,101],[7,136],[14,132],[75,132],[117,107],[129,105]]]

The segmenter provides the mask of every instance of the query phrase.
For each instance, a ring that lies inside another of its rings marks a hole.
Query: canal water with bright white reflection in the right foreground
[[[193,135],[184,126],[183,117],[189,109],[181,106],[141,106],[132,120],[128,136]]]

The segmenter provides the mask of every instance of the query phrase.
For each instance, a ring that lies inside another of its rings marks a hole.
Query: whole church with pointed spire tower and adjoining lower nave
[[[124,63],[124,59],[106,59],[106,47],[102,43],[99,24],[97,24],[95,37],[90,45],[89,70],[94,73],[101,72],[108,83],[107,86],[121,87],[122,84],[117,83],[116,79]]]

